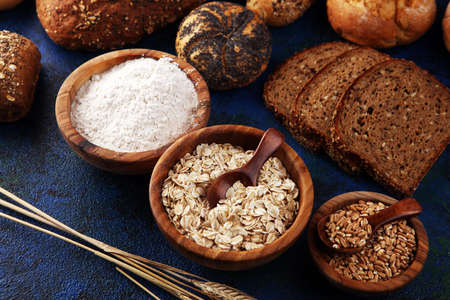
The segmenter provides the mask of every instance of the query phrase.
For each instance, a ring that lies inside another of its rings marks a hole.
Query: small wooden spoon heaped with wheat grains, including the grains
[[[421,212],[422,206],[414,198],[400,200],[372,215],[337,210],[319,220],[317,231],[320,240],[329,250],[353,254],[364,248],[380,226]]]

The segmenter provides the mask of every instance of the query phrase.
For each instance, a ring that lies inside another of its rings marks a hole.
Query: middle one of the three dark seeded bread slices
[[[289,127],[294,137],[299,142],[312,141],[317,145],[313,151],[326,150],[327,145],[332,145],[333,112],[345,91],[367,69],[388,59],[386,54],[361,47],[344,52],[320,70],[291,107]],[[350,172],[359,172],[359,166],[353,161],[343,160],[340,165]]]

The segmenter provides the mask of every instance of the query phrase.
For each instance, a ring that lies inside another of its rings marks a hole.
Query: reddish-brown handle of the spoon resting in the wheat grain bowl
[[[388,222],[404,217],[415,216],[421,212],[422,206],[420,206],[416,199],[405,198],[389,206],[388,208],[383,209],[379,213],[368,216],[367,220],[372,226],[373,231],[375,231],[378,227]]]

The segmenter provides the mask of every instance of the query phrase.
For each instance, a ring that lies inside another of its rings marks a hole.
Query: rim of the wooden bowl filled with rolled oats
[[[191,239],[185,237],[184,235],[178,232],[175,225],[173,225],[173,223],[169,220],[166,210],[162,204],[161,199],[162,182],[165,178],[167,178],[167,173],[170,170],[170,168],[168,168],[167,171],[165,172],[165,176],[162,176],[159,179],[155,179],[156,178],[155,174],[159,172],[164,172],[164,170],[161,170],[163,168],[162,166],[163,162],[166,161],[172,155],[174,150],[176,150],[179,146],[181,146],[186,140],[191,139],[192,136],[201,137],[214,133],[215,131],[218,130],[226,130],[229,131],[229,133],[242,130],[250,130],[252,134],[257,134],[260,137],[262,137],[264,133],[263,130],[254,127],[244,125],[224,124],[198,129],[178,139],[167,149],[166,152],[164,152],[164,154],[160,157],[153,170],[149,186],[150,206],[153,216],[156,220],[159,229],[166,236],[166,238],[169,239],[169,241],[171,241],[172,243],[175,242],[179,247],[183,248],[184,250],[187,250],[190,254],[193,254],[195,257],[206,258],[209,260],[220,261],[223,263],[240,263],[240,262],[242,263],[263,259],[268,259],[267,260],[268,262],[274,259],[277,256],[277,253],[281,254],[282,252],[287,250],[304,231],[308,223],[308,220],[311,216],[314,202],[314,190],[310,173],[303,160],[297,154],[297,152],[294,149],[292,149],[286,142],[284,142],[283,145],[280,147],[281,151],[284,151],[291,155],[295,155],[294,156],[295,160],[292,162],[292,164],[295,164],[296,169],[301,170],[301,172],[299,173],[301,173],[302,175],[299,176],[299,180],[295,182],[299,188],[299,199],[301,199],[301,201],[299,211],[294,219],[294,222],[283,233],[283,235],[281,235],[278,239],[276,239],[272,243],[264,245],[263,247],[257,249],[246,251],[237,251],[237,250],[225,251],[200,246],[199,244],[195,243]],[[183,153],[186,154],[187,152]],[[179,159],[177,159],[175,163],[178,161]]]

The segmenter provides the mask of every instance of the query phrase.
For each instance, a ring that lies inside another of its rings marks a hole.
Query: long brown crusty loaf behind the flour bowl
[[[205,0],[36,0],[49,37],[68,49],[113,49],[138,42]]]

